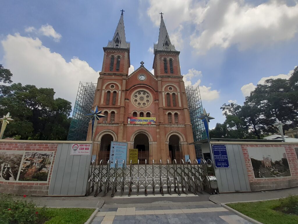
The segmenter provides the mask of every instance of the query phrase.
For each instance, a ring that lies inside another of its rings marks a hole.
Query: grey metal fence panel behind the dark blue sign
[[[226,145],[230,168],[215,169],[219,192],[250,191],[241,145]]]

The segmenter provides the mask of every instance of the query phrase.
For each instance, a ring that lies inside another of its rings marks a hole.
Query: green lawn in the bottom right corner
[[[291,196],[297,197],[297,196]],[[298,216],[295,214],[286,214],[274,209],[284,207],[289,198],[259,201],[259,202],[241,202],[227,204],[229,207],[247,215],[264,224],[297,224]],[[278,209],[280,210],[280,209]]]

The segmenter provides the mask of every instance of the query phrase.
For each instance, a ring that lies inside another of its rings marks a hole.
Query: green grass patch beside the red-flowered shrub
[[[45,208],[45,215],[49,218],[45,224],[84,224],[94,210],[92,208]]]

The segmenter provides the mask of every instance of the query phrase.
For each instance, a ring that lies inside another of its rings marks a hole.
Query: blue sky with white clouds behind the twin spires
[[[224,122],[223,103],[243,104],[263,77],[288,78],[298,65],[297,0],[1,0],[1,8],[0,63],[13,81],[54,88],[72,103],[79,81],[97,81],[121,9],[134,69],[142,60],[152,69],[164,13],[185,83],[200,85],[203,107],[216,118],[211,128]]]

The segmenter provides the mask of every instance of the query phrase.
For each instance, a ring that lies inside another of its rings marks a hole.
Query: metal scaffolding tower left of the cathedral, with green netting
[[[68,141],[86,141],[90,118],[85,114],[90,113],[95,90],[96,85],[94,83],[80,82],[67,136]]]

